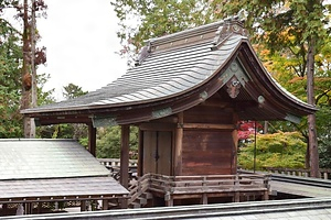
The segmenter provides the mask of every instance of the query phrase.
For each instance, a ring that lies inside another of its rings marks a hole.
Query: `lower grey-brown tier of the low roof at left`
[[[0,202],[107,199],[128,190],[113,177],[0,180]]]

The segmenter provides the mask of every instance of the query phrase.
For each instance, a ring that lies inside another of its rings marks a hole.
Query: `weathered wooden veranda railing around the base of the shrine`
[[[129,188],[129,204],[147,190],[164,197],[172,195],[269,191],[269,176],[261,174],[166,176],[146,174]]]

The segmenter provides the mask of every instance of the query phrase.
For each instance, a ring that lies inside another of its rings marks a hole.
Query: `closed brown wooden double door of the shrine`
[[[171,175],[172,132],[145,131],[142,173]]]

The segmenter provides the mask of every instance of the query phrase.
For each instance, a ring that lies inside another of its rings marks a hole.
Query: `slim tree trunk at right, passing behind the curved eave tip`
[[[314,37],[310,38],[308,55],[307,55],[307,98],[308,103],[314,106],[313,92],[313,74],[314,74]],[[309,138],[309,158],[310,158],[310,176],[319,177],[319,152],[316,131],[316,116],[308,116],[308,138]]]

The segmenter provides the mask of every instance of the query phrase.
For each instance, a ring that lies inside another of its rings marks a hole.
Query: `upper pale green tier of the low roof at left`
[[[0,140],[0,180],[107,176],[109,172],[76,141]]]

